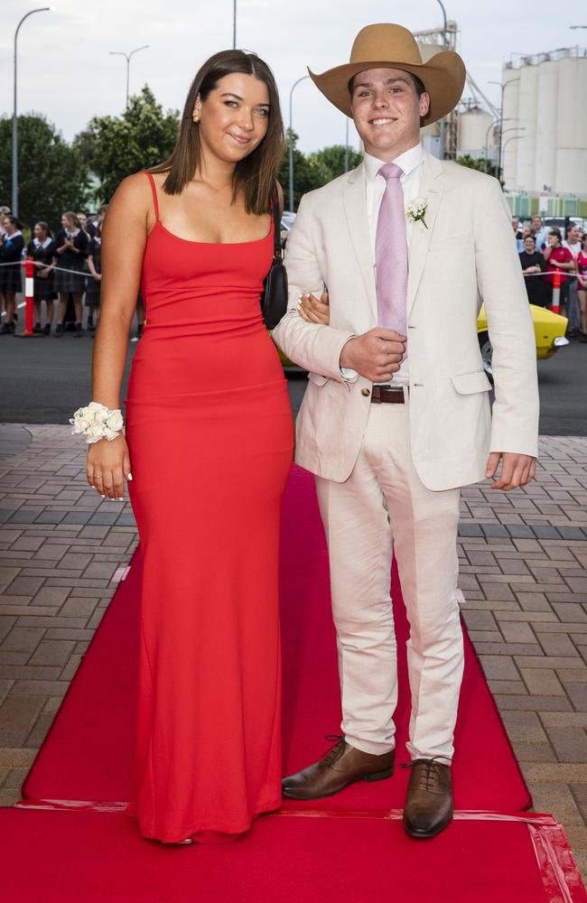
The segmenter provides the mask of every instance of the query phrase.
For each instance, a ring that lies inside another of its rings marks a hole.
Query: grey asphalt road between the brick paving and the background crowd
[[[66,424],[73,411],[90,398],[93,340],[15,339],[0,336],[0,422]],[[126,379],[137,347],[129,344]],[[587,435],[587,345],[571,340],[554,358],[538,363],[540,433]],[[293,412],[302,401],[305,378],[289,378]],[[123,393],[123,398],[125,394]]]

